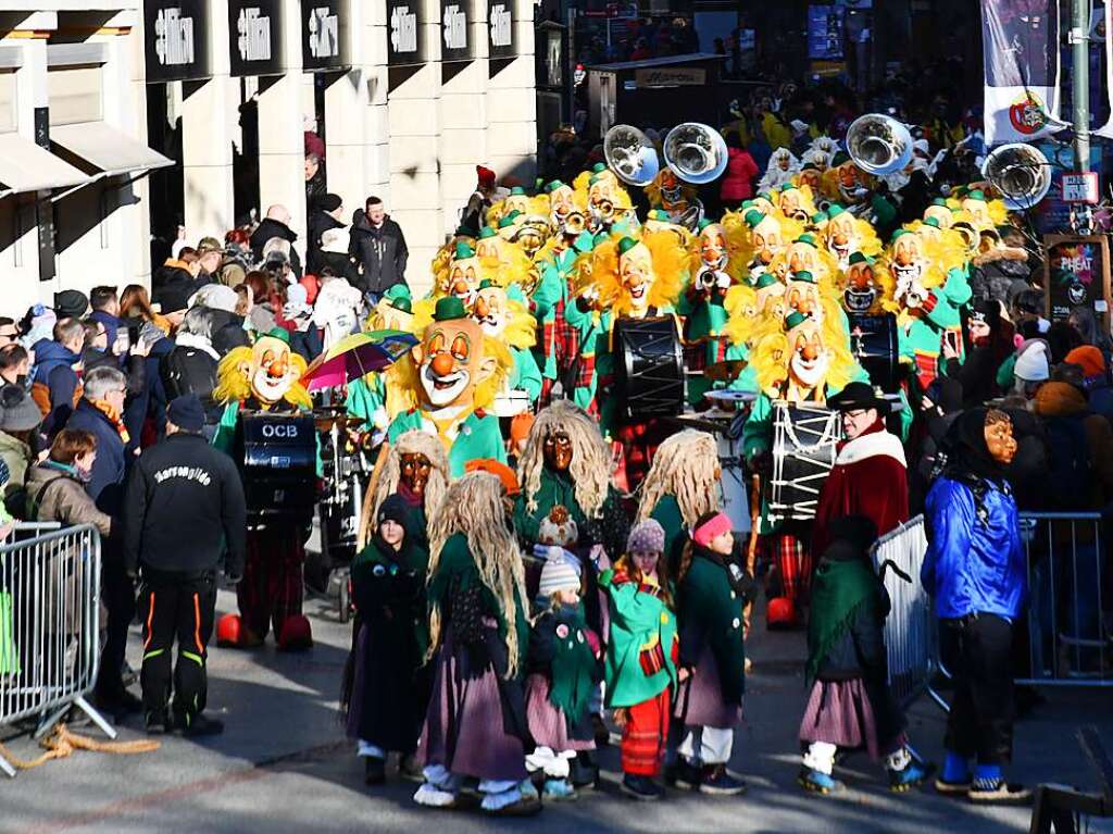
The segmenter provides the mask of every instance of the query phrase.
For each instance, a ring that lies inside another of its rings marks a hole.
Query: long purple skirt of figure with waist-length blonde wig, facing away
[[[449,626],[434,659],[433,697],[425,714],[417,758],[457,776],[521,782],[522,739],[505,729],[499,678],[490,666],[467,675],[466,649],[456,649]]]

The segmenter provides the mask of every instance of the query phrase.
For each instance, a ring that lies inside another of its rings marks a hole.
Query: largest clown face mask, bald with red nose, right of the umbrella
[[[423,401],[434,411],[470,405],[475,386],[495,372],[483,353],[483,328],[471,318],[433,322],[411,349]]]

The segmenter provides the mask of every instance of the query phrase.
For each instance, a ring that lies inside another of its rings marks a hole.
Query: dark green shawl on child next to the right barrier
[[[835,542],[833,547],[844,546]],[[847,546],[849,547],[849,546]],[[859,609],[883,617],[880,583],[873,567],[858,555],[849,559],[826,558],[816,570],[811,585],[811,611],[808,617],[808,663],[805,679],[811,686],[824,658],[850,627]]]

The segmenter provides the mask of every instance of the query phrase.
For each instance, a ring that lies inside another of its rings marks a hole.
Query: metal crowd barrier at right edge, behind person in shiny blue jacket
[[[1021,518],[1028,570],[1028,668],[1018,684],[1113,686],[1107,544],[1097,512]]]

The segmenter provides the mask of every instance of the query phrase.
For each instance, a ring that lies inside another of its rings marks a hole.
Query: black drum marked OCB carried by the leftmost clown
[[[317,434],[312,414],[244,412],[233,441],[249,519],[308,522],[317,489]]]

